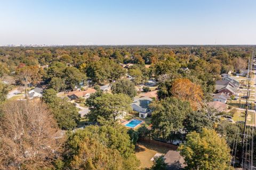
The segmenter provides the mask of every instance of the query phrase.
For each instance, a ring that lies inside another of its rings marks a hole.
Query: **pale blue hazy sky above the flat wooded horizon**
[[[0,0],[0,45],[256,44],[254,0]]]

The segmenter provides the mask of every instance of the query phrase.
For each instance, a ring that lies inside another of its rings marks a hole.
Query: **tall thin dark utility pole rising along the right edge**
[[[242,168],[243,168],[243,165],[246,164],[246,163],[243,163],[244,149],[245,149],[244,141],[245,141],[245,128],[246,128],[246,121],[247,121],[247,115],[248,115],[248,106],[249,106],[249,98],[250,98],[250,89],[249,89],[249,87],[250,87],[250,80],[251,80],[251,74],[250,73],[251,73],[252,63],[253,63],[253,51],[252,51],[252,59],[251,60],[252,61],[251,61],[251,67],[250,67],[250,59],[249,59],[249,62],[248,62],[248,72],[247,72],[247,96],[246,96],[246,103],[245,103],[246,110],[245,110],[245,120],[244,120],[243,140],[242,140],[242,155],[241,155],[241,158],[240,158],[240,164],[242,164]]]

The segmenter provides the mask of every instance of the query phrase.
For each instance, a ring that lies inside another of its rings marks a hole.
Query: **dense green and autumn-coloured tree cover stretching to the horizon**
[[[188,169],[228,169],[236,125],[220,122],[205,103],[212,101],[220,74],[246,69],[254,48],[0,47],[0,169],[138,169],[134,147],[140,137],[186,139],[179,150]],[[158,99],[150,104],[152,129],[127,130],[117,118],[132,112],[135,86],[149,79],[158,84]],[[103,94],[98,85],[109,83],[112,93]],[[40,101],[6,100],[13,87],[31,85],[45,87]],[[81,116],[57,93],[81,85],[97,90],[84,101],[90,126],[71,132]],[[67,133],[57,137],[60,129]],[[158,164],[161,160],[151,169],[165,168]]]

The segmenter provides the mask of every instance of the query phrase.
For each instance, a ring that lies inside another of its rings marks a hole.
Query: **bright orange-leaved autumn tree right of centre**
[[[187,78],[175,79],[172,84],[171,94],[175,98],[187,100],[193,110],[201,108],[203,100],[202,88]]]

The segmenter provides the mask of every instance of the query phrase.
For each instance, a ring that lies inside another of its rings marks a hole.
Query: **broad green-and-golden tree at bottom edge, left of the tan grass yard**
[[[125,127],[87,126],[70,133],[64,160],[71,169],[137,169],[139,161]]]

